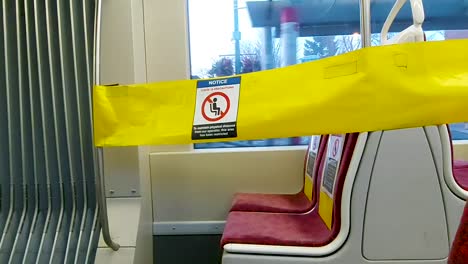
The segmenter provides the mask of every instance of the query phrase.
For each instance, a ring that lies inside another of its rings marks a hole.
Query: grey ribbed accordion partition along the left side
[[[92,263],[95,0],[2,0],[0,263]]]

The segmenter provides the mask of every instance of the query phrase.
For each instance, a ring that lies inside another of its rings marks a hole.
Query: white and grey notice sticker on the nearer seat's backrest
[[[328,150],[325,168],[322,175],[322,189],[333,198],[336,176],[343,152],[344,135],[331,135],[328,140]]]

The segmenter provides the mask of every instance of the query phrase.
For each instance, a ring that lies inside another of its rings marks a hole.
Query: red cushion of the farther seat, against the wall
[[[303,213],[312,208],[309,198],[297,194],[239,193],[234,197],[231,211]]]

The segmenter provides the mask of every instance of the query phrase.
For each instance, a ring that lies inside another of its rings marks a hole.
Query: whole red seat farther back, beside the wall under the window
[[[316,192],[313,191],[315,175],[320,159],[325,152],[323,144],[328,136],[312,136],[304,159],[304,184],[296,194],[237,193],[230,211],[305,213],[315,205]],[[316,145],[314,145],[316,144]]]

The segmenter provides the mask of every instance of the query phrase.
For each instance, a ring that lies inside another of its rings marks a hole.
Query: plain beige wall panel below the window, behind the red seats
[[[152,153],[155,222],[224,221],[236,192],[299,192],[305,152],[287,147]]]

